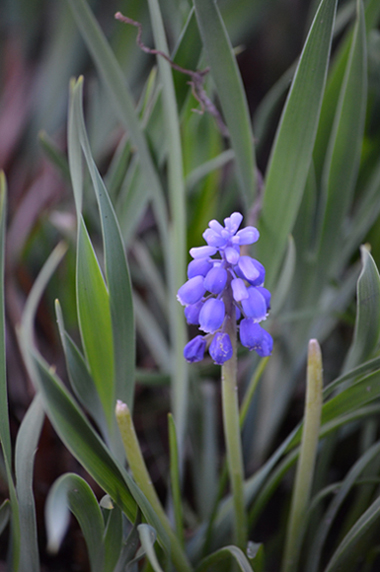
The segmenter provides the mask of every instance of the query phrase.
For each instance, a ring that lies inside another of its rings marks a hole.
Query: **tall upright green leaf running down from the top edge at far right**
[[[320,277],[335,271],[340,258],[343,222],[350,207],[357,172],[367,103],[367,53],[364,12],[358,0],[358,18],[352,38],[338,107],[323,169],[323,218],[318,252]],[[338,233],[338,234],[337,234]]]

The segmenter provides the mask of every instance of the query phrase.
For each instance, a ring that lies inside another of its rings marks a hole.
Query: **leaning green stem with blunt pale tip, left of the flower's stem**
[[[184,553],[180,541],[174,534],[168,517],[162,507],[160,499],[157,496],[156,489],[153,486],[148,469],[146,468],[144,458],[141,453],[140,444],[137,439],[135,427],[133,424],[131,412],[128,406],[122,401],[116,404],[116,420],[120,429],[121,438],[127,460],[132,471],[132,475],[136,484],[144,493],[149,501],[152,509],[160,520],[166,534],[169,537],[171,545],[171,557],[178,572],[191,572],[192,567],[186,554]]]

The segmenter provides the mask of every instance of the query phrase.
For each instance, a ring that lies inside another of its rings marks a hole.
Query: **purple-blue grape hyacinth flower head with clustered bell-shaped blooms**
[[[243,215],[235,212],[224,219],[224,226],[210,221],[203,233],[207,246],[190,250],[193,260],[188,265],[188,280],[177,298],[185,306],[188,324],[198,325],[205,335],[186,344],[184,357],[189,362],[201,361],[207,346],[216,364],[231,359],[233,344],[226,324],[235,316],[241,320],[243,346],[261,357],[272,352],[273,340],[259,325],[270,309],[271,295],[263,286],[265,269],[254,258],[240,254],[241,246],[258,240],[259,231],[253,226],[238,230],[242,220]]]

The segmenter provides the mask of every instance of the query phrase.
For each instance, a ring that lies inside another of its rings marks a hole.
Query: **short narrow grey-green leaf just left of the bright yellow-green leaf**
[[[94,380],[91,377],[86,360],[79,351],[79,348],[65,331],[61,306],[58,300],[55,302],[55,310],[71,387],[80,403],[87,409],[94,421],[96,421],[103,435],[107,435],[108,431],[104,409],[99,399]]]

